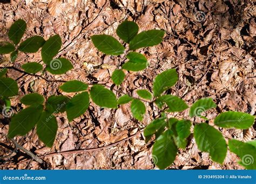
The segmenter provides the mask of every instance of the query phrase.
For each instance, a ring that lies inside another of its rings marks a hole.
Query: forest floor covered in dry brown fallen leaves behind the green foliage
[[[23,39],[35,35],[48,39],[53,34],[59,34],[63,47],[58,56],[69,59],[74,66],[65,75],[44,73],[46,79],[108,82],[111,86],[110,76],[123,58],[99,52],[90,37],[109,34],[118,39],[115,30],[125,19],[136,22],[139,32],[165,30],[163,43],[139,50],[147,57],[150,66],[141,72],[126,73],[125,81],[120,87],[114,86],[114,89],[132,96],[137,96],[136,89],[152,91],[152,81],[157,74],[176,68],[179,81],[169,93],[178,95],[189,105],[202,97],[213,98],[218,108],[206,113],[209,124],[213,125],[213,119],[222,111],[255,113],[255,15],[253,1],[239,0],[16,0],[11,4],[0,3],[0,41],[8,40],[8,29],[15,20],[24,19],[27,29]],[[8,66],[9,60],[10,55],[1,55],[1,65]],[[40,52],[19,54],[15,65],[20,67],[28,61],[41,61]],[[13,79],[21,75],[15,70],[8,72]],[[33,91],[45,98],[60,93],[70,95],[58,90],[59,83],[46,82],[30,75],[19,79],[18,85],[19,96],[11,100],[15,112],[24,108],[19,103],[21,97]],[[123,95],[113,92],[118,97]],[[156,169],[151,157],[152,142],[146,144],[139,131],[158,117],[159,111],[147,104],[145,118],[138,122],[132,117],[129,105],[121,105],[119,109],[103,109],[91,103],[83,116],[70,123],[64,114],[60,114],[52,148],[45,147],[39,141],[35,130],[26,136],[16,137],[20,145],[37,155],[55,154],[43,157],[44,163],[38,164],[36,161],[21,163],[24,154],[14,153],[13,157],[1,161],[0,168]],[[169,116],[191,119],[188,110]],[[201,118],[191,120],[204,121]],[[8,122],[1,118],[0,132],[7,134],[8,129]],[[256,126],[248,130],[218,129],[226,140],[235,138],[248,141],[256,137]],[[130,138],[135,133],[137,135]],[[1,144],[14,147],[4,136],[0,138]],[[114,144],[119,140],[123,141]],[[57,154],[84,148],[96,149]],[[1,146],[0,155],[9,153],[10,150]],[[25,155],[25,158],[29,157]],[[191,136],[187,148],[178,151],[176,161],[169,168],[243,169],[237,164],[238,160],[235,154],[228,151],[223,165],[212,162],[208,153],[198,150]]]

